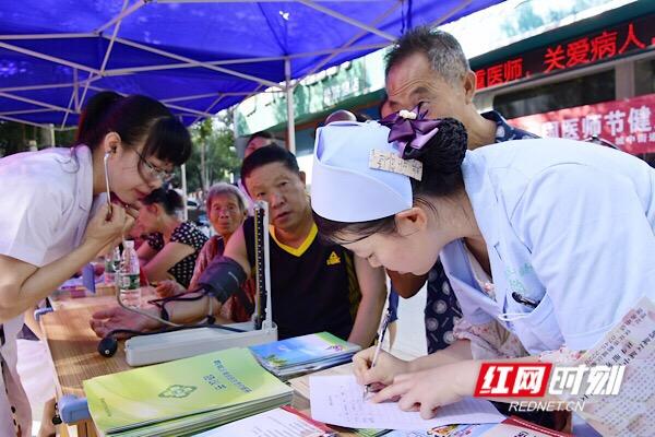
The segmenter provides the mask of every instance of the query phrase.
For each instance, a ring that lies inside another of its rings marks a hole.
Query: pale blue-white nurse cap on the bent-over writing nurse
[[[412,172],[397,173],[403,172],[398,165],[408,162],[388,138],[389,128],[374,121],[336,121],[318,129],[311,180],[311,206],[317,214],[357,223],[412,208],[412,185],[405,175]],[[396,165],[372,168],[372,156]]]

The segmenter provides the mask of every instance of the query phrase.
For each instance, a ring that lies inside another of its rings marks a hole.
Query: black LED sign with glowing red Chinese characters
[[[475,71],[477,88],[552,74],[628,52],[646,50],[653,45],[655,45],[655,15],[648,15],[477,69]]]

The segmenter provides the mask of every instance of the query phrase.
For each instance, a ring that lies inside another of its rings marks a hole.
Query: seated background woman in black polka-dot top
[[[193,223],[180,220],[182,198],[175,190],[158,188],[141,203],[138,222],[150,235],[138,253],[147,279],[172,277],[181,286],[189,286],[198,252],[207,237]]]

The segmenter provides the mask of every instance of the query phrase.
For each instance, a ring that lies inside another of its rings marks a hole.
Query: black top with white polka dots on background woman
[[[206,241],[206,235],[191,222],[180,223],[170,235],[170,243],[181,243],[193,248],[193,253],[182,258],[178,263],[168,269],[168,273],[184,287],[188,287],[191,283],[198,253]],[[164,236],[159,233],[153,233],[147,237],[147,244],[154,250],[159,251],[165,246]]]

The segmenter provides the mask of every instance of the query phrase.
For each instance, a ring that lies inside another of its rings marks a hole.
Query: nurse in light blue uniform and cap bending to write
[[[644,162],[559,139],[467,152],[458,121],[404,115],[391,135],[378,123],[319,130],[311,194],[324,236],[414,274],[441,253],[466,322],[487,333],[501,323],[531,362],[561,347],[574,356],[655,298],[655,170]],[[474,345],[413,362],[382,354],[372,368],[369,349],[355,371],[389,385],[374,401],[401,397],[400,408],[431,417],[473,394]]]

